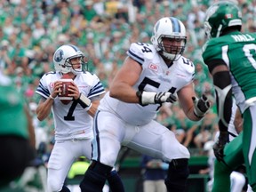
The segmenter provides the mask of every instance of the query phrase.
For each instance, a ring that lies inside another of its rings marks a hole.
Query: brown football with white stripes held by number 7
[[[60,93],[59,93],[59,99],[60,101],[65,104],[68,105],[68,103],[73,100],[73,97],[69,97],[68,94],[72,93],[68,91],[68,86],[72,85],[71,82],[73,82],[73,79],[68,76],[67,74],[64,74],[61,78],[60,81],[62,82],[62,87],[60,88]]]

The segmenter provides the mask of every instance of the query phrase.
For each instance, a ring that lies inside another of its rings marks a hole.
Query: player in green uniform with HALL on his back
[[[223,1],[207,10],[204,28],[209,41],[204,45],[203,58],[213,77],[220,118],[220,137],[213,146],[218,161],[212,191],[229,191],[229,173],[243,163],[252,190],[256,191],[256,34],[241,33],[239,8]],[[224,149],[232,93],[244,117],[244,133]]]

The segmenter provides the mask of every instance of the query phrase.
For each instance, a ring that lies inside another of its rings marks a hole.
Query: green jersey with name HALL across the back
[[[245,101],[256,97],[256,34],[236,31],[212,38],[204,44],[203,59],[208,66],[211,60],[227,64],[236,104],[244,112]]]

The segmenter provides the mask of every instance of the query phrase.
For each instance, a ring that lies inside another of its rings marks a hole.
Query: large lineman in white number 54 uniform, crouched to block
[[[116,162],[121,145],[169,164],[168,191],[180,192],[188,178],[188,149],[173,132],[154,120],[164,102],[180,105],[189,119],[199,121],[210,108],[205,96],[196,98],[195,67],[184,58],[186,29],[180,20],[165,17],[156,22],[152,44],[133,43],[110,91],[100,100],[94,117],[92,164],[80,183],[83,192],[100,192]],[[193,99],[192,99],[193,98]]]

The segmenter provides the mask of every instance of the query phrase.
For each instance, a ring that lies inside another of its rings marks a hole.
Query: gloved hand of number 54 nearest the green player
[[[203,94],[200,99],[192,97],[192,100],[194,102],[194,114],[198,118],[202,118],[210,108],[210,102],[208,98]]]

